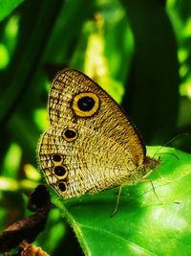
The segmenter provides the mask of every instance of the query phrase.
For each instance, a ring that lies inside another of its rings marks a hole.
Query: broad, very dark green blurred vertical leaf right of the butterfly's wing
[[[145,143],[161,145],[174,136],[179,110],[180,76],[174,29],[161,1],[120,2],[135,41],[122,106],[128,109]]]

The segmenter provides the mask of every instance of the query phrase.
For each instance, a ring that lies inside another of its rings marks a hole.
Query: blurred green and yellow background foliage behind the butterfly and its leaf
[[[37,143],[51,81],[66,66],[108,91],[146,145],[189,133],[191,2],[0,0],[0,231],[26,215],[27,195],[43,181]],[[190,145],[189,135],[171,144]],[[56,208],[37,242],[51,255],[81,253]]]

